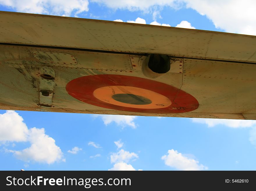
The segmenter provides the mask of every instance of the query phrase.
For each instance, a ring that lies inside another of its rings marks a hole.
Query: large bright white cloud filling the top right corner
[[[187,8],[206,15],[216,28],[226,32],[256,35],[254,0],[183,0]]]

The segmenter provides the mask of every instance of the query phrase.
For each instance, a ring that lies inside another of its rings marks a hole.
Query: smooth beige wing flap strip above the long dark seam
[[[0,42],[256,62],[256,37],[0,11]]]

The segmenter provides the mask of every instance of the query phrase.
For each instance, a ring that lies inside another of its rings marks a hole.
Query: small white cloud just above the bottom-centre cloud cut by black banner
[[[129,160],[132,158],[139,158],[136,153],[130,153],[129,151],[125,151],[124,149],[121,149],[117,153],[112,153],[110,156],[110,162],[111,163],[119,163],[119,162],[126,162],[128,163]]]

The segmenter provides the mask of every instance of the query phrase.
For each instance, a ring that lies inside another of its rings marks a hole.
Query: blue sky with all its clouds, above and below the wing
[[[228,0],[0,0],[2,11],[250,35],[255,7]],[[256,170],[255,124],[0,110],[0,170]]]

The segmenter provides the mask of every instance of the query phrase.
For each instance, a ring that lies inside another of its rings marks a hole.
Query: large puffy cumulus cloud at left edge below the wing
[[[55,144],[53,138],[45,134],[45,129],[35,127],[28,129],[23,122],[23,118],[15,111],[6,111],[6,113],[1,114],[0,124],[0,136],[5,135],[5,138],[2,137],[1,141],[23,141],[31,144],[30,147],[19,151],[6,149],[7,152],[13,153],[18,159],[47,164],[64,160],[60,147]],[[10,133],[7,133],[6,129]],[[19,135],[16,135],[16,133]]]

